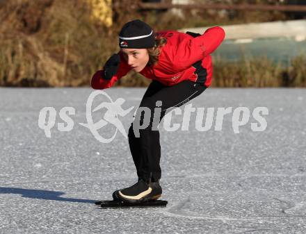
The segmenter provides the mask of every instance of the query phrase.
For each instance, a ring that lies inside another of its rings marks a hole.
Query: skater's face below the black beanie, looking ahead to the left
[[[147,49],[121,49],[121,51],[127,64],[135,72],[141,72],[147,65],[147,62],[149,62]]]

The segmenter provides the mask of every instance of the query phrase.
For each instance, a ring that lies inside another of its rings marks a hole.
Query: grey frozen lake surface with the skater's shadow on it
[[[198,131],[191,115],[188,131],[161,128],[161,199],[168,206],[117,210],[93,202],[136,183],[134,162],[120,132],[105,144],[79,124],[86,123],[92,91],[0,88],[0,233],[306,233],[305,89],[205,90],[188,103],[246,107],[248,123],[234,133],[230,114],[222,131],[214,124]],[[145,93],[104,91],[124,98],[124,109],[138,107]],[[46,106],[57,112],[50,138],[38,127]],[[75,115],[72,130],[63,132],[57,124],[65,106]],[[268,108],[265,131],[252,131],[256,107]],[[125,131],[133,112],[119,117]],[[113,133],[114,126],[99,129],[104,137]]]

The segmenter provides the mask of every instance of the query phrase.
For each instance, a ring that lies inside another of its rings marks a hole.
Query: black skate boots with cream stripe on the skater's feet
[[[131,187],[119,190],[116,194],[118,199],[129,203],[140,203],[143,201],[156,200],[161,197],[161,185],[159,182],[144,181],[142,178]]]

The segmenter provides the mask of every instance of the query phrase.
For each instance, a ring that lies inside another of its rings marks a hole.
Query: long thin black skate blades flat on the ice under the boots
[[[97,204],[99,203],[99,204]],[[129,203],[125,201],[97,201],[96,205],[101,208],[147,208],[147,207],[166,207],[168,201],[164,200],[150,200],[140,203]]]

